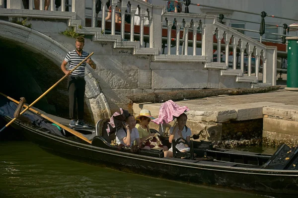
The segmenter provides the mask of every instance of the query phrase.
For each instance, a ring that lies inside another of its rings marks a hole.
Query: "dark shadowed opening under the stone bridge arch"
[[[64,73],[60,66],[42,54],[26,49],[22,44],[11,40],[0,39],[1,92],[18,100],[25,97],[31,104],[53,84],[61,79]],[[7,59],[13,57],[13,60]],[[67,80],[63,80],[34,107],[47,113],[68,118]]]

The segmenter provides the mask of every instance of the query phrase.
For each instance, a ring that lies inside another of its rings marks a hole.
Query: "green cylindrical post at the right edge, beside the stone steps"
[[[286,37],[288,40],[288,91],[298,91],[298,37]]]

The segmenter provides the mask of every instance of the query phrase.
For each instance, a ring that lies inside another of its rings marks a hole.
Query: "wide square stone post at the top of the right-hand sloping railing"
[[[213,24],[202,25],[202,55],[207,62],[213,61]]]

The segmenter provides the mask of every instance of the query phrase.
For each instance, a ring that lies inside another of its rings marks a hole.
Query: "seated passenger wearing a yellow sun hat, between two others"
[[[154,118],[151,116],[151,112],[147,109],[141,110],[140,115],[136,117],[136,120],[139,121],[139,123],[136,125],[136,128],[139,131],[141,142],[144,142],[146,139],[148,139],[151,136],[152,136],[151,141],[156,142],[156,137],[154,136],[155,133],[150,132],[148,127],[150,121],[153,119]],[[149,141],[144,143],[145,143],[145,146],[144,145],[141,146],[143,149],[150,149],[154,147],[154,145],[151,145]],[[137,142],[135,141],[135,145],[136,144]],[[163,148],[164,151],[168,150],[168,147],[163,146],[162,144],[160,144],[159,147]]]

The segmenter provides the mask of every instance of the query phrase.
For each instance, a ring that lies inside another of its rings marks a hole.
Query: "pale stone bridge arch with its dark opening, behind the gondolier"
[[[60,65],[69,51],[59,42],[34,29],[0,20],[0,68],[3,93],[33,102],[63,77]],[[87,69],[85,111],[87,119],[96,122],[110,117],[108,102],[98,81]],[[63,80],[36,107],[49,113],[68,117],[67,80]]]

